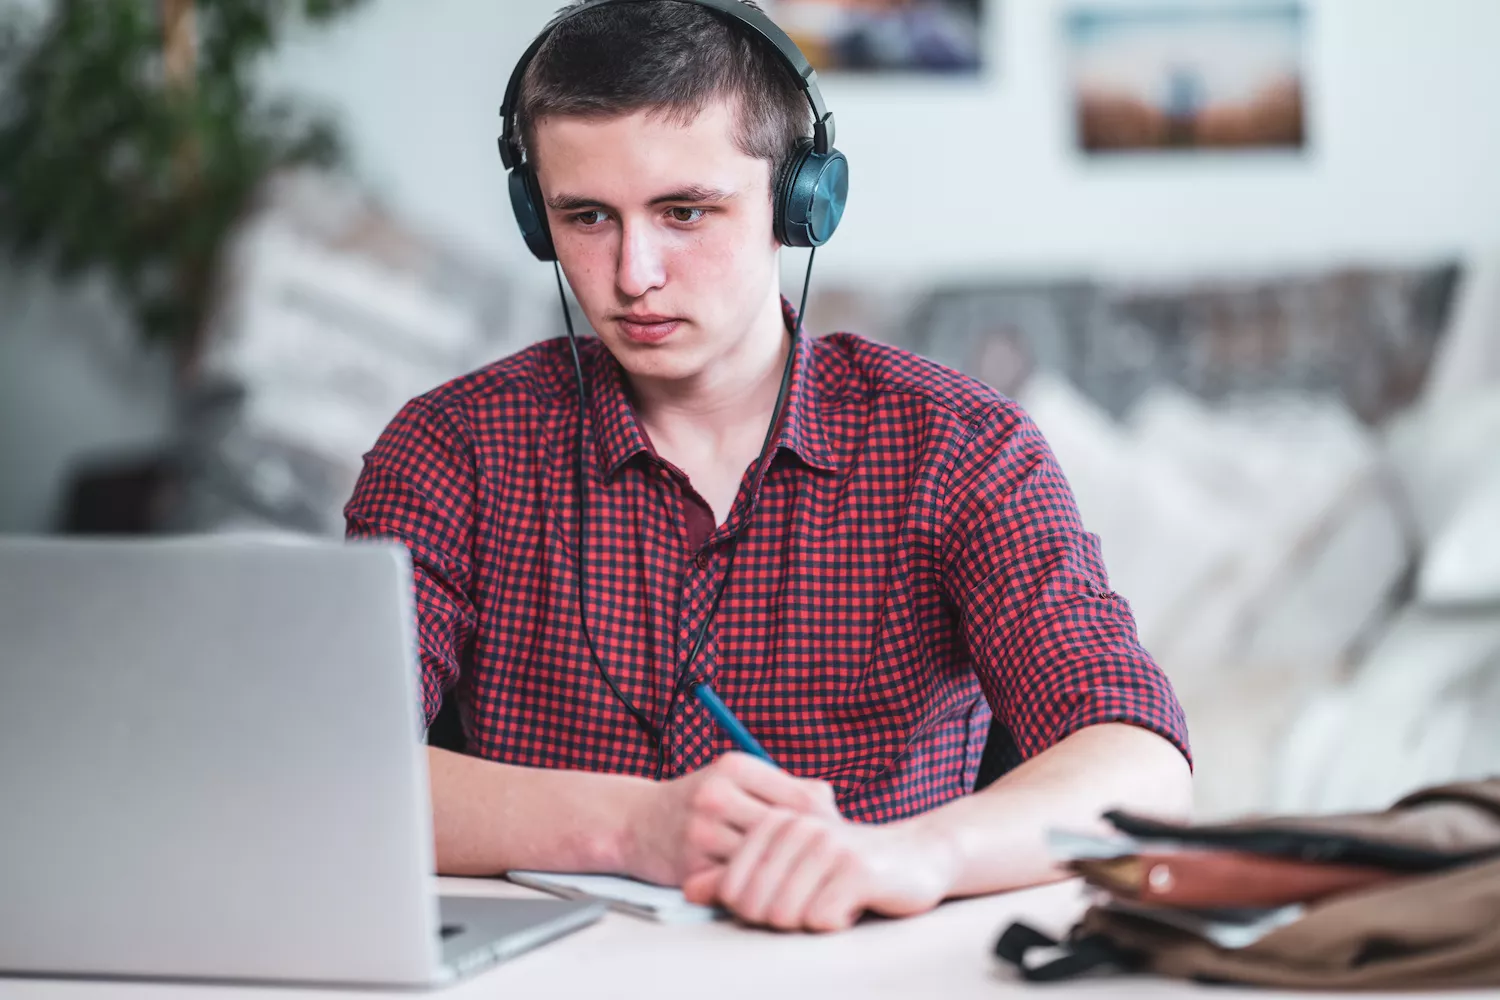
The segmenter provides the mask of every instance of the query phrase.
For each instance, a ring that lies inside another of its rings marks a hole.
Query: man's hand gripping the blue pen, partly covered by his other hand
[[[724,754],[700,771],[652,786],[638,802],[626,870],[680,886],[735,858],[772,813],[838,819],[826,781],[796,778],[748,754]]]

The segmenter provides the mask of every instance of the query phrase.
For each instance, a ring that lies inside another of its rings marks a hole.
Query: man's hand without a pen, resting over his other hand
[[[924,913],[950,894],[957,858],[912,825],[864,826],[837,816],[768,811],[728,864],[682,886],[748,924],[838,931],[866,910]]]

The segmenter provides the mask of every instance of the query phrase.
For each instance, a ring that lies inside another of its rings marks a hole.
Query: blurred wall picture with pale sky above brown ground
[[[1080,150],[1302,150],[1304,25],[1302,4],[1287,0],[1068,9]]]

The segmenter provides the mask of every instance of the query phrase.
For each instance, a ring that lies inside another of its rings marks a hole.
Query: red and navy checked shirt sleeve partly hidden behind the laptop
[[[447,414],[417,399],[364,456],[344,508],[348,538],[399,541],[411,553],[429,726],[474,640],[474,484],[468,439]]]

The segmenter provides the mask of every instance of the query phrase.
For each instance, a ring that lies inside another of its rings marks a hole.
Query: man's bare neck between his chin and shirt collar
[[[657,451],[681,448],[742,451],[746,439],[759,447],[770,426],[790,336],[772,298],[732,354],[711,370],[684,381],[632,379],[636,411]]]

